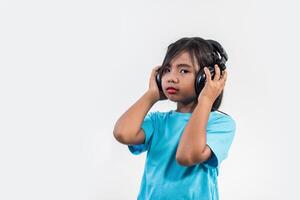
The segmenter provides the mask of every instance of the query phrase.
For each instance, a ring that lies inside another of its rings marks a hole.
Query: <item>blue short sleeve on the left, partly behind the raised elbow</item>
[[[141,128],[145,132],[145,141],[143,144],[128,145],[128,148],[131,153],[138,155],[149,149],[149,146],[151,144],[151,138],[155,130],[156,113],[157,112],[149,112],[145,116],[144,121],[141,125]]]

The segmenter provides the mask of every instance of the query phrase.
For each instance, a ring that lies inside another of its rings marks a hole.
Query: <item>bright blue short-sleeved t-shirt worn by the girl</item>
[[[177,146],[192,113],[147,113],[142,128],[145,142],[128,145],[131,153],[147,151],[138,200],[218,200],[220,163],[227,157],[235,134],[235,121],[218,111],[210,112],[206,143],[212,156],[203,164],[182,166],[176,161]]]

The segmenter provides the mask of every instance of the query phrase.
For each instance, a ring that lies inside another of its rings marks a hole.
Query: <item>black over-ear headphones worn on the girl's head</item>
[[[213,53],[212,53],[213,63],[211,65],[207,66],[210,71],[211,78],[213,79],[215,76],[215,67],[214,67],[215,64],[217,64],[219,66],[219,68],[222,72],[223,70],[226,69],[225,63],[228,60],[228,56],[227,56],[227,53],[225,52],[224,48],[217,41],[214,41],[214,40],[206,40],[206,41],[214,49]],[[158,86],[160,92],[163,94],[162,84],[161,84],[161,77],[162,77],[163,72],[162,72],[162,70],[160,70],[160,68],[157,70],[158,73],[156,75],[156,83],[157,83],[157,86]],[[197,73],[196,80],[195,80],[195,92],[197,94],[197,97],[199,96],[201,90],[203,89],[203,87],[205,85],[205,80],[206,80],[206,75],[205,75],[204,69],[202,68]]]

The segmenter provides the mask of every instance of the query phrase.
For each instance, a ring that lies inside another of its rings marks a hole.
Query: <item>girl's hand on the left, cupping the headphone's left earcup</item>
[[[161,65],[156,66],[152,69],[151,77],[149,80],[149,89],[148,92],[152,95],[153,99],[155,101],[159,100],[166,100],[168,99],[163,92],[161,92],[157,86],[156,83],[156,74],[158,73],[158,69],[161,67]]]

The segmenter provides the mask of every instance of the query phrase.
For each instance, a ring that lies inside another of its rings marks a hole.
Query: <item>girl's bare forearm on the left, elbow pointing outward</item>
[[[141,128],[142,122],[150,108],[156,103],[149,92],[143,94],[116,122],[114,135],[116,137],[131,138]]]

